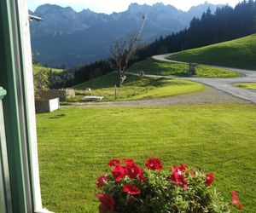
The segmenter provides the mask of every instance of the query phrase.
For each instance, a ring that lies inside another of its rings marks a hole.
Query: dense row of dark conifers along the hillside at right
[[[256,32],[256,1],[218,8],[214,14],[208,9],[201,19],[194,18],[188,29],[160,37],[138,53],[143,60],[151,55],[165,54],[220,43]]]

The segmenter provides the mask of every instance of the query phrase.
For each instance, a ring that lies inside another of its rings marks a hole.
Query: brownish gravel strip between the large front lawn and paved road
[[[71,106],[63,107],[156,107],[169,105],[191,105],[191,104],[210,104],[210,103],[247,103],[232,95],[207,87],[207,89],[185,95],[174,95],[166,98],[157,98],[139,101],[111,101],[111,102],[87,102],[73,103]]]

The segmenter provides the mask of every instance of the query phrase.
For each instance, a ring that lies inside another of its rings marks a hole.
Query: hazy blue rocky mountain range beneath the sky
[[[44,4],[34,11],[43,21],[31,22],[32,51],[38,53],[35,60],[44,65],[78,66],[109,57],[113,41],[137,31],[146,14],[143,41],[148,43],[183,30],[193,17],[201,17],[208,8],[214,13],[220,6],[206,2],[184,12],[163,3],[131,3],[124,12],[98,14]]]

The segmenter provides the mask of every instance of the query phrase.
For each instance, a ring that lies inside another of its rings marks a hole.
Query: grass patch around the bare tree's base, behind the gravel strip
[[[74,86],[79,96],[70,101],[82,101],[84,95],[89,95],[86,88],[92,89],[92,95],[104,96],[103,101],[127,101],[148,98],[157,98],[172,95],[192,93],[204,89],[200,83],[185,80],[165,78],[140,78],[127,75],[124,85],[117,88],[115,100],[114,85],[117,82],[117,73],[111,72],[99,78]]]

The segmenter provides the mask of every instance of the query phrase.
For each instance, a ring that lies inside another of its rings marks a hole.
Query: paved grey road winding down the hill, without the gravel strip
[[[169,54],[170,55],[170,54]],[[154,55],[153,58],[155,60],[163,60],[163,61],[174,61],[175,60],[167,60],[167,55]],[[179,62],[183,63],[183,62]],[[242,77],[238,78],[183,78],[189,81],[195,81],[199,83],[204,83],[212,88],[219,89],[225,93],[236,96],[243,100],[247,100],[253,103],[256,103],[256,92],[249,89],[242,89],[232,85],[232,83],[256,83],[256,71],[248,71],[224,66],[215,66],[219,68],[229,69],[235,72],[241,72]]]

